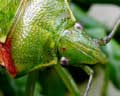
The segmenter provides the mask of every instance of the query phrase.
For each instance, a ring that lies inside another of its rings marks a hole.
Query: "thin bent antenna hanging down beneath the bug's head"
[[[91,87],[91,83],[92,83],[92,79],[93,79],[93,70],[89,67],[89,66],[81,66],[81,68],[89,75],[89,80],[88,80],[88,84],[84,93],[84,96],[88,95],[89,89]]]

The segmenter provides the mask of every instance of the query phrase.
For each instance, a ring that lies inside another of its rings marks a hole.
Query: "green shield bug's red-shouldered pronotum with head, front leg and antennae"
[[[99,46],[110,41],[113,31],[101,40],[91,38],[76,22],[67,0],[22,0],[4,43],[0,43],[0,63],[13,77],[38,68],[54,66],[73,96],[80,96],[74,80],[61,65],[81,67],[90,75],[87,64],[105,63]]]

